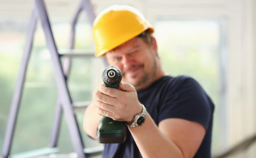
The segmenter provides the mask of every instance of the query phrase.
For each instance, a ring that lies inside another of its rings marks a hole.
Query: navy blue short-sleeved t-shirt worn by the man
[[[182,118],[202,124],[206,134],[194,158],[211,158],[214,105],[198,82],[188,76],[164,76],[137,94],[156,125],[166,118]],[[141,158],[141,154],[127,130],[126,141],[105,144],[102,157]]]

